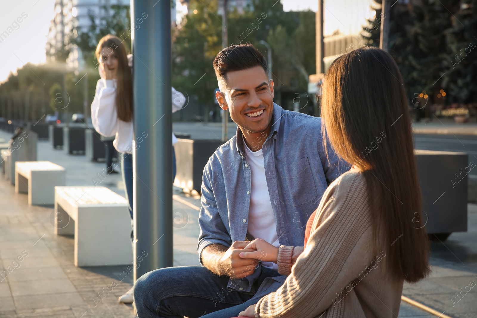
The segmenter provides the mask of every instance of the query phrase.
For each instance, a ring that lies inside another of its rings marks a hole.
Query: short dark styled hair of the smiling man
[[[251,44],[231,45],[220,51],[214,59],[214,70],[218,78],[225,79],[228,72],[241,71],[261,66],[267,71],[267,61],[262,53]]]

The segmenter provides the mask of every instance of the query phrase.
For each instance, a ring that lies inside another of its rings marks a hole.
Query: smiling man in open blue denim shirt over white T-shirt
[[[214,69],[217,101],[239,127],[204,169],[203,266],[161,268],[140,277],[134,287],[139,318],[237,316],[277,290],[300,254],[292,246],[303,246],[308,216],[346,170],[333,153],[325,155],[320,118],[273,103],[267,63],[252,45],[223,49]],[[280,247],[279,254],[241,258],[240,252],[253,251],[244,247],[255,238]]]

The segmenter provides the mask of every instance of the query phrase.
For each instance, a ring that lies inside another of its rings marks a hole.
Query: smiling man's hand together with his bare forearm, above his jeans
[[[223,245],[209,245],[202,250],[202,264],[217,275],[230,278],[243,278],[251,275],[258,267],[256,259],[244,259],[240,252],[252,252],[244,249],[249,242],[235,241],[229,248]]]

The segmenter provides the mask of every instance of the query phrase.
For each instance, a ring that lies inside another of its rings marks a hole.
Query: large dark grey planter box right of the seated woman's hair
[[[467,232],[467,157],[466,153],[415,150],[424,211],[422,224],[427,233],[439,234],[441,240],[452,232]],[[414,221],[413,226],[418,226]]]

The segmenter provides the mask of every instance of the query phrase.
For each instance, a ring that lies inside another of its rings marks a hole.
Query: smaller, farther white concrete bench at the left
[[[15,163],[15,192],[28,193],[29,205],[55,203],[57,185],[66,184],[66,170],[50,161],[17,161]]]

